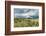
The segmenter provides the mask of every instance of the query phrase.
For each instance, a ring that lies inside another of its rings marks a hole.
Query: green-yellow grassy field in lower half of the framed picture
[[[38,19],[14,18],[14,27],[38,27]]]

